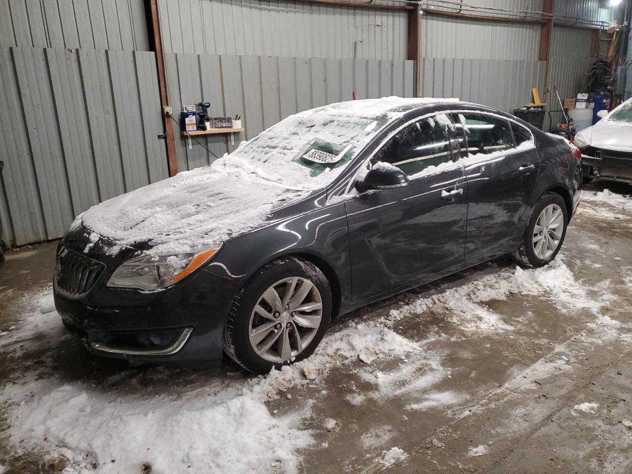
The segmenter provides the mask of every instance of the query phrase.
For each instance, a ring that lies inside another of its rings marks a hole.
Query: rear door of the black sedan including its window
[[[488,112],[454,114],[468,183],[465,260],[494,253],[525,213],[540,167],[528,128]]]

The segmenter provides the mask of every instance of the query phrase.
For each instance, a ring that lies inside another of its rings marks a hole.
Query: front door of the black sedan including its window
[[[399,130],[370,165],[399,167],[408,185],[345,201],[355,301],[463,263],[467,188],[453,128],[442,114]]]

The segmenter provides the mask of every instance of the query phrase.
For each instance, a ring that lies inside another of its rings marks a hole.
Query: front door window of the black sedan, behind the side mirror
[[[429,167],[451,161],[449,126],[451,121],[446,114],[411,123],[384,144],[371,164],[390,163],[413,177]]]

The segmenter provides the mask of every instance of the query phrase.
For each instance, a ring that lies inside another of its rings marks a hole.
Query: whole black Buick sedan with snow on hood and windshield
[[[581,154],[495,109],[355,100],[112,198],[59,244],[55,304],[93,353],[267,372],[332,317],[512,253],[556,257]]]

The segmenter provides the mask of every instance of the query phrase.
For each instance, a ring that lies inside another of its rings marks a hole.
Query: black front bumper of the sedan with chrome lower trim
[[[106,279],[78,299],[54,288],[64,326],[90,352],[178,365],[221,360],[224,322],[240,284],[205,270],[155,293],[109,288]]]

